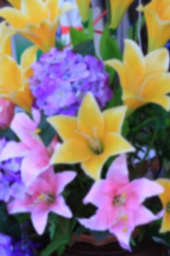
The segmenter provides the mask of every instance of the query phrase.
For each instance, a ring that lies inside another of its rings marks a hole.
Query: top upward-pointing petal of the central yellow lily
[[[91,92],[88,92],[79,108],[77,126],[91,138],[97,128],[97,137],[101,139],[104,132],[104,118]]]

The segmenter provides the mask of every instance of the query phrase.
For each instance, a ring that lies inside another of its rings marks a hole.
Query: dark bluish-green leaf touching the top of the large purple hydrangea
[[[76,45],[73,50],[74,53],[85,55],[93,55],[95,56],[95,46],[92,39],[87,40],[79,45]]]

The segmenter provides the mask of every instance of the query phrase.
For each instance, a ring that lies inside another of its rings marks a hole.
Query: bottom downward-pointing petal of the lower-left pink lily
[[[44,233],[48,221],[48,213],[49,211],[31,213],[31,220],[33,222],[33,226],[39,235],[42,235]]]

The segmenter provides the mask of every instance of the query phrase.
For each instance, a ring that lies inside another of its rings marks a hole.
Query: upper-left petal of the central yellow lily
[[[67,139],[77,139],[80,141],[85,141],[86,139],[79,135],[77,132],[77,118],[68,117],[64,115],[56,115],[49,117],[47,121],[54,127],[57,133],[63,140]]]

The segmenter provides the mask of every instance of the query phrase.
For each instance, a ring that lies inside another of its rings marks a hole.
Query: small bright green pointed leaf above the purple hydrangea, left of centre
[[[71,36],[71,43],[73,47],[88,40],[88,36],[84,33],[84,31],[79,31],[74,27],[70,28],[70,36]]]

